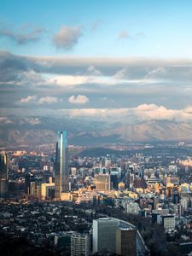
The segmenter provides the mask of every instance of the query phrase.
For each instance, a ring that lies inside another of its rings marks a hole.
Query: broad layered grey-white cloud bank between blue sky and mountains
[[[119,119],[127,115],[129,119],[190,122],[190,108],[186,106],[191,105],[191,93],[191,59],[43,57],[0,52],[3,113],[14,108],[18,112],[25,108],[26,113],[32,106],[34,111],[42,108],[41,114],[51,107],[55,113],[69,109],[83,116],[114,113],[115,117],[116,113]],[[89,109],[84,109],[88,102]]]

